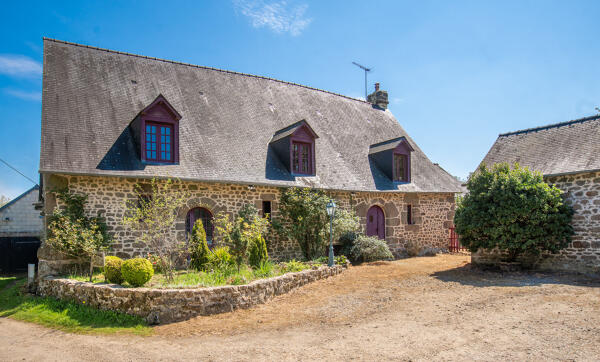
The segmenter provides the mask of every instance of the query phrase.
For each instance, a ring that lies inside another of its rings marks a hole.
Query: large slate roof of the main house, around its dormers
[[[349,191],[458,192],[389,111],[339,94],[266,77],[44,39],[40,172]],[[142,164],[128,125],[162,94],[182,116],[180,162]],[[269,147],[306,120],[317,175],[292,177]],[[406,137],[412,183],[395,185],[369,146]]]

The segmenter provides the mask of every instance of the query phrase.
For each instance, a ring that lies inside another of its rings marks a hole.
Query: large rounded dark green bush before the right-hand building
[[[467,182],[454,217],[461,243],[472,252],[499,248],[509,261],[521,254],[556,253],[571,241],[573,210],[561,190],[539,172],[506,163],[485,165]]]

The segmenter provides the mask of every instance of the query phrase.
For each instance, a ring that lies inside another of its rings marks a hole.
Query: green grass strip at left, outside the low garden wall
[[[152,329],[139,317],[23,294],[20,290],[24,283],[25,280],[19,280],[15,285],[0,291],[0,317],[33,322],[65,332],[152,333]]]

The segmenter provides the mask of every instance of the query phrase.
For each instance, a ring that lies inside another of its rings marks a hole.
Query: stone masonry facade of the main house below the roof
[[[136,232],[122,224],[126,200],[136,196],[134,187],[149,180],[121,177],[44,175],[45,212],[50,214],[57,205],[54,195],[47,191],[68,186],[72,192],[88,195],[87,212],[101,214],[106,218],[114,242],[111,254],[131,258],[151,252],[145,244],[136,240]],[[182,187],[190,198],[181,210],[173,232],[185,240],[185,218],[195,207],[204,207],[214,216],[224,212],[233,215],[247,203],[261,210],[263,201],[271,202],[271,216],[278,216],[278,200],[281,188],[248,186],[226,183],[202,183],[183,181]],[[452,193],[392,193],[392,192],[339,192],[329,193],[340,208],[353,208],[360,217],[363,229],[370,207],[382,208],[386,220],[386,241],[396,257],[406,253],[409,243],[421,249],[444,250],[448,245],[448,229],[454,218],[454,194]],[[407,224],[407,205],[412,206],[413,223]],[[269,256],[274,260],[301,258],[297,244],[290,240],[269,243]]]

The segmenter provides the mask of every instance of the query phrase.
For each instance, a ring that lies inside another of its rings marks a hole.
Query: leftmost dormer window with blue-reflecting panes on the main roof
[[[139,140],[140,158],[150,164],[179,162],[179,120],[181,116],[159,95],[132,122]]]

